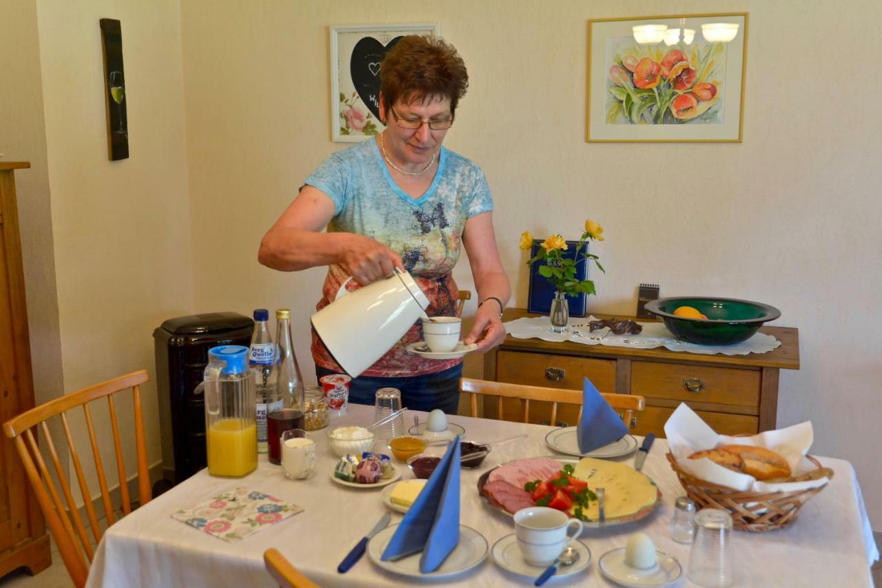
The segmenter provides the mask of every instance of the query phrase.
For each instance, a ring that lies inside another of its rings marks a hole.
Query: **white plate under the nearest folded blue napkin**
[[[469,569],[475,568],[476,565],[484,561],[487,552],[490,551],[487,539],[484,539],[481,533],[460,524],[460,542],[435,571],[423,574],[420,571],[422,552],[407,555],[407,557],[395,562],[384,562],[380,559],[396,529],[398,529],[397,524],[390,524],[383,531],[374,535],[368,541],[368,557],[380,568],[415,580],[451,580],[453,577],[460,576]]]

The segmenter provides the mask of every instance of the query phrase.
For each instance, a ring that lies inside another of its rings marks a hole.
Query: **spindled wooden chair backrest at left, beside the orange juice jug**
[[[150,501],[151,496],[150,477],[147,473],[144,417],[141,412],[139,386],[146,381],[148,381],[148,377],[144,370],[129,373],[116,378],[116,380],[106,381],[97,386],[85,388],[36,406],[30,411],[23,412],[18,417],[11,418],[4,424],[4,432],[7,437],[14,441],[15,447],[19,451],[21,461],[25,465],[27,477],[31,480],[31,486],[34,486],[34,494],[37,496],[43,515],[46,516],[49,530],[52,531],[52,536],[55,537],[58,544],[58,552],[61,554],[64,566],[67,568],[73,584],[76,586],[86,585],[88,562],[92,562],[93,549],[91,541],[86,534],[83,517],[80,516],[78,506],[74,501],[73,494],[71,494],[71,484],[68,482],[67,468],[63,466],[59,459],[55,443],[49,434],[47,422],[50,418],[57,417],[64,427],[64,441],[69,451],[70,461],[73,464],[74,471],[76,471],[80,494],[83,497],[83,506],[86,509],[89,525],[92,527],[94,542],[97,544],[101,541],[103,531],[101,531],[101,527],[98,524],[98,516],[95,515],[92,493],[89,491],[86,483],[86,476],[82,467],[83,463],[80,461],[79,453],[74,445],[66,413],[80,406],[83,407],[86,416],[86,428],[88,429],[89,440],[92,446],[94,469],[98,476],[98,485],[101,487],[101,504],[104,507],[104,515],[107,517],[107,526],[110,526],[116,522],[116,516],[111,505],[111,493],[108,490],[108,480],[104,471],[104,464],[101,461],[101,453],[98,440],[95,437],[92,413],[89,411],[88,403],[101,398],[107,398],[110,426],[113,430],[114,449],[116,450],[116,471],[120,481],[121,507],[123,515],[128,515],[131,512],[131,500],[125,464],[123,463],[123,447],[119,423],[112,395],[131,388],[132,404],[134,406],[135,446],[138,455],[138,501],[140,505],[144,505]],[[61,487],[61,494],[58,493],[56,483],[53,481],[49,468],[37,446],[39,430],[43,432],[46,449],[55,465],[55,473],[58,479],[58,486]],[[86,460],[88,460],[88,455],[86,455]],[[66,466],[66,464],[64,465]],[[62,501],[62,494],[64,495],[66,507]],[[78,543],[79,545],[77,545]],[[86,560],[86,558],[88,559]]]

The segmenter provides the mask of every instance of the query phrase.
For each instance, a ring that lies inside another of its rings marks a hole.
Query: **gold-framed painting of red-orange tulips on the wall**
[[[588,20],[587,142],[741,142],[748,20],[747,12]],[[647,25],[655,31],[633,29]]]

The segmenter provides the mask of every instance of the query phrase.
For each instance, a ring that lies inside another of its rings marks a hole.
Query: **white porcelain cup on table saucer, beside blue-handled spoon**
[[[575,532],[567,534],[574,528]],[[548,507],[529,507],[514,514],[514,535],[524,561],[539,568],[549,566],[564,547],[579,537],[582,522],[564,511]]]

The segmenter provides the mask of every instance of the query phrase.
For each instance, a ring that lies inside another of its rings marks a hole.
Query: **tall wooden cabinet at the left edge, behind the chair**
[[[0,162],[0,424],[34,406],[31,348],[27,335],[25,277],[13,170],[26,162]],[[0,434],[0,577],[26,567],[49,567],[49,536],[19,454]]]

